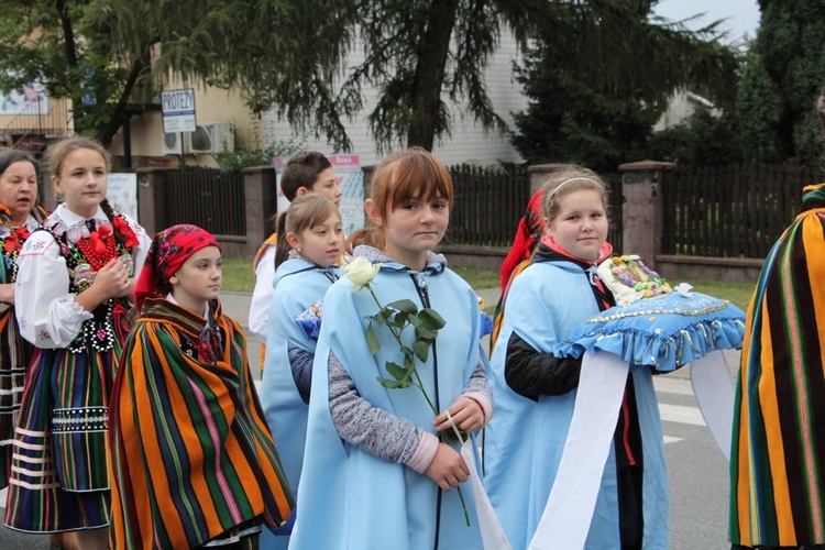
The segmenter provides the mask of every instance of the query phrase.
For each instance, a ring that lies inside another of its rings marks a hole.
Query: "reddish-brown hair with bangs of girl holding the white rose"
[[[375,167],[370,198],[382,219],[410,199],[430,201],[436,197],[443,198],[452,208],[452,177],[447,166],[421,147],[394,153]],[[350,235],[349,243],[352,246],[367,244],[384,250],[384,229],[369,221],[364,229]]]

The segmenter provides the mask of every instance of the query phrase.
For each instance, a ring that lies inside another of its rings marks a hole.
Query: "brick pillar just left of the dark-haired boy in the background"
[[[277,213],[275,168],[252,166],[243,168],[243,188],[246,197],[245,257],[253,257],[257,249],[275,232],[273,218]]]

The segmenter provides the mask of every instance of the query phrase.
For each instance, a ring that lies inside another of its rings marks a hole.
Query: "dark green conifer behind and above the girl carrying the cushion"
[[[654,2],[570,2],[566,25],[543,26],[517,67],[530,99],[514,144],[532,162],[613,169],[641,158],[652,125],[679,88],[732,106],[737,58],[717,23],[696,31],[651,15]]]

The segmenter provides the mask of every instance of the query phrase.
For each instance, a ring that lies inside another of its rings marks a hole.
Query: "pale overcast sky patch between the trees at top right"
[[[730,42],[745,33],[754,38],[760,18],[757,0],[661,0],[653,11],[676,21],[704,12],[705,15],[700,20],[702,24],[727,19],[723,28],[729,30]]]

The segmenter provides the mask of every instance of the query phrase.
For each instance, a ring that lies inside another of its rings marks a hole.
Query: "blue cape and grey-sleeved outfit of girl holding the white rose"
[[[371,246],[355,248],[353,256],[383,263],[371,283],[381,304],[408,298],[419,308],[436,309],[447,322],[427,362],[416,363],[438,410],[465,395],[490,418],[492,395],[473,290],[435,254],[421,273]],[[435,415],[421,392],[387,388],[376,380],[388,376],[387,361],[403,361],[403,355],[385,327],[376,329],[381,350],[371,353],[365,316],[378,307],[370,292],[356,290],[342,278],[328,290],[323,308],[289,548],[481,548],[470,484],[462,484],[468,527],[458,491],[442,492],[425,474],[438,438],[432,433]],[[411,331],[403,338],[411,344]],[[429,451],[428,442],[435,443]]]

